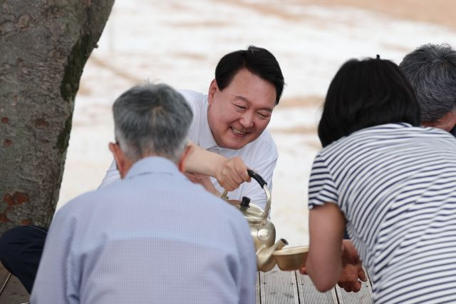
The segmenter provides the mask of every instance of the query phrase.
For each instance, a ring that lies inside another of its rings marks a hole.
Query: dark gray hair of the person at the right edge
[[[448,44],[425,44],[399,65],[421,107],[421,121],[435,122],[456,109],[456,51]]]

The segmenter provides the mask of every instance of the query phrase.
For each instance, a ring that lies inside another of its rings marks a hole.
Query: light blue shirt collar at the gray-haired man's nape
[[[160,156],[147,156],[142,158],[128,170],[125,179],[130,179],[135,176],[140,176],[149,173],[179,173],[176,164],[167,158]]]

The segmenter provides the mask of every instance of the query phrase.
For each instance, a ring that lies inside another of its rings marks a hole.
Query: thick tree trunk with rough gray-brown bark
[[[113,3],[0,0],[0,234],[51,221],[79,79]]]

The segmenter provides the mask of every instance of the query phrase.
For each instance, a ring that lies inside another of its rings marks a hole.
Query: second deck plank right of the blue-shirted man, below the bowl
[[[319,292],[309,275],[301,275],[299,271],[295,272],[296,281],[298,282],[299,303],[318,303],[318,304],[335,304],[338,303],[336,291],[333,289],[326,293]]]

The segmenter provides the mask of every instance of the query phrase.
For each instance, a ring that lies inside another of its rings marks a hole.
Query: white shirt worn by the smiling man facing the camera
[[[189,131],[190,141],[208,151],[219,153],[227,158],[239,156],[247,167],[257,171],[261,177],[264,178],[269,190],[272,190],[272,173],[276,167],[279,153],[277,152],[276,144],[269,131],[264,130],[259,138],[252,141],[252,143],[248,143],[239,150],[221,148],[215,142],[212,131],[209,128],[209,123],[207,123],[207,95],[189,90],[182,90],[180,93],[185,97],[193,111],[194,117]],[[103,178],[100,187],[118,180],[119,178],[120,175],[115,168],[115,161],[113,161],[108,172],[106,172],[106,176]],[[211,180],[217,191],[222,193],[224,189],[219,186],[217,180],[215,178],[211,178]],[[254,181],[253,179],[250,183],[242,183],[235,191],[228,193],[228,196],[229,199],[239,201],[242,200],[242,196],[247,196],[255,205],[263,209],[266,206],[266,195],[257,181]]]

